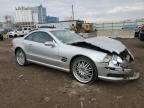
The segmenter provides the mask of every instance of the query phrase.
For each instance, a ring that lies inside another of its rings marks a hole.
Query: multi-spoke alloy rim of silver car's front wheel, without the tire
[[[90,82],[93,78],[93,68],[87,61],[78,60],[73,65],[73,75],[80,82]]]

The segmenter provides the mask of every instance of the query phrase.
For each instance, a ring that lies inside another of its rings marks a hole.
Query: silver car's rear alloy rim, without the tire
[[[25,54],[22,50],[18,50],[16,52],[16,60],[17,60],[17,63],[21,66],[25,65]]]

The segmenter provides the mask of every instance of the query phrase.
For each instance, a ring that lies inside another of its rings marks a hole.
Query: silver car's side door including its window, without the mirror
[[[58,66],[59,47],[46,32],[37,31],[26,37],[28,59],[34,62]],[[54,42],[55,46],[47,46],[46,42]]]

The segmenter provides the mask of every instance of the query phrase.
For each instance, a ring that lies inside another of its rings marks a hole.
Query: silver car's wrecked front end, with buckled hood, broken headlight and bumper
[[[140,76],[139,73],[129,68],[134,57],[120,41],[107,37],[96,37],[71,45],[107,54],[103,61],[96,62],[99,79],[121,81],[138,79]]]

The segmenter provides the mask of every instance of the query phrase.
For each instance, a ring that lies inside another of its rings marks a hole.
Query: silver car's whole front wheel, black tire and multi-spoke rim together
[[[95,64],[87,57],[77,57],[72,61],[71,72],[74,78],[84,84],[93,83],[98,78]]]

